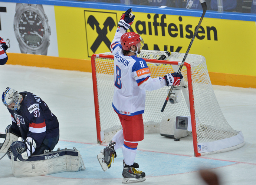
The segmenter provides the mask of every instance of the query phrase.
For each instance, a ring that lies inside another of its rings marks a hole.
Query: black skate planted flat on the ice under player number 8
[[[146,174],[144,172],[138,171],[135,168],[139,168],[138,163],[133,163],[133,165],[129,166],[124,163],[124,169],[123,169],[123,184],[133,183],[133,182],[143,182],[146,180],[145,176]]]

